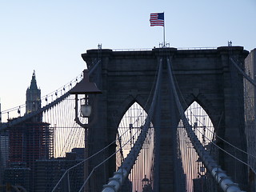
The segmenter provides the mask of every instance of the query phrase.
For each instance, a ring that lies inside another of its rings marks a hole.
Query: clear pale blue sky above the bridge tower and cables
[[[86,67],[89,49],[150,49],[162,26],[150,13],[165,12],[173,47],[256,47],[256,0],[0,0],[2,110],[26,102],[33,70],[42,96]]]

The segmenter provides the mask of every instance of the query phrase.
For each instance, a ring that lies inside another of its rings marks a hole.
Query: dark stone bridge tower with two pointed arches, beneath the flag
[[[214,124],[219,137],[224,138],[234,146],[246,150],[244,133],[243,78],[232,66],[229,57],[244,62],[248,52],[241,46],[225,46],[210,50],[177,50],[175,48],[113,51],[87,50],[82,58],[89,69],[94,61],[102,59],[100,66],[91,75],[91,81],[96,82],[102,90],[102,95],[94,99],[92,121],[89,130],[89,155],[113,142],[116,138],[118,123],[123,114],[134,103],[138,102],[148,111],[152,100],[150,91],[154,86],[154,79],[158,71],[159,58],[164,58],[161,97],[157,113],[154,115],[154,127],[157,128],[159,140],[159,167],[158,181],[154,187],[161,192],[177,192],[175,177],[176,129],[179,122],[177,109],[170,93],[170,83],[167,78],[166,57],[170,58],[171,65],[177,79],[180,101],[183,109],[194,101],[198,102]],[[226,143],[217,140],[223,149],[234,154]],[[115,145],[110,147],[100,158],[90,161],[89,169],[102,162],[109,154],[113,154]],[[246,157],[236,151],[236,156],[246,161]],[[235,166],[232,158],[219,152],[218,162],[223,170],[232,177],[234,182],[246,187],[246,167]],[[236,167],[236,169],[234,169]],[[97,172],[100,191],[107,178],[115,170],[115,159],[104,165],[104,169]],[[245,189],[245,188],[243,188]]]

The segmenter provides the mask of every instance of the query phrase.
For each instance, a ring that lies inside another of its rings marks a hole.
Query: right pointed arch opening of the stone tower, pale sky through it
[[[211,142],[215,142],[214,125],[212,124],[209,115],[206,113],[206,110],[204,110],[198,102],[194,101],[187,107],[185,114],[190,125],[194,129],[194,133],[202,143],[202,146],[205,146],[207,150],[210,150],[210,154],[216,158],[216,154],[214,153],[217,150],[216,148],[214,149],[211,144]],[[178,153],[182,159],[182,169],[186,174],[186,190],[192,191],[194,189],[194,182],[203,182],[203,178],[206,177],[206,168],[194,150],[194,147],[186,134],[186,130],[182,126],[182,121],[178,124],[177,134],[179,144]],[[194,179],[197,181],[194,181]],[[212,182],[212,180],[210,181]],[[210,183],[210,186],[217,189],[217,184],[214,185],[214,182]]]

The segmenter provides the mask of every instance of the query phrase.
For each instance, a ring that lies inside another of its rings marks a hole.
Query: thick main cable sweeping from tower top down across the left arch
[[[158,98],[158,90],[160,87],[160,79],[162,78],[162,58],[159,60],[159,68],[158,68],[158,78],[157,83],[154,90],[153,100],[151,102],[149,114],[146,117],[146,122],[142,126],[142,131],[138,136],[137,141],[134,143],[134,146],[130,150],[130,153],[127,155],[126,159],[122,163],[122,166],[118,168],[116,172],[114,172],[114,177],[109,179],[109,182],[104,186],[102,192],[116,192],[120,189],[123,182],[125,182],[130,170],[133,168],[134,163],[138,157],[139,152],[142,149],[142,145],[145,142],[146,134],[150,127],[151,118],[154,114],[154,107]]]

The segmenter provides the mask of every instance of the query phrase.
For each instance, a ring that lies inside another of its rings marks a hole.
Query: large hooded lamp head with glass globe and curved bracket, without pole
[[[102,91],[98,89],[94,82],[89,81],[88,70],[83,70],[83,78],[81,82],[78,82],[76,86],[72,90],[70,90],[70,94],[75,95],[75,122],[78,123],[79,126],[86,127],[86,123],[82,123],[78,116],[78,95],[80,96],[80,116],[82,118],[89,118],[91,114],[91,106],[90,106],[90,95],[101,94]]]

